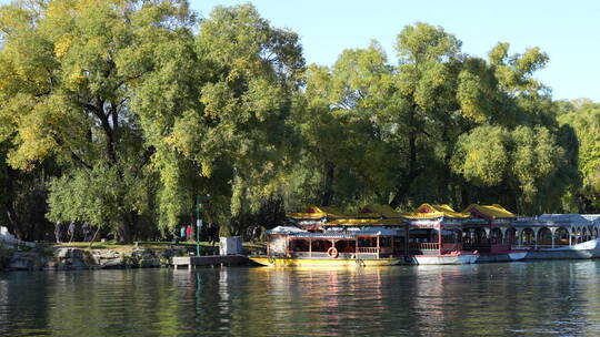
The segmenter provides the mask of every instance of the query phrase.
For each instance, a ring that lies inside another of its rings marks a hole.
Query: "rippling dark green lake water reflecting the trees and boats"
[[[600,336],[600,261],[4,273],[0,336]]]

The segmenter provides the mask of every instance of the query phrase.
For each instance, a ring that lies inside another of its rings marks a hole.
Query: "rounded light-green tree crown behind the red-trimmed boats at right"
[[[501,188],[509,206],[531,214],[542,206],[539,190],[562,161],[562,147],[543,126],[479,126],[459,137],[452,170],[474,186]]]

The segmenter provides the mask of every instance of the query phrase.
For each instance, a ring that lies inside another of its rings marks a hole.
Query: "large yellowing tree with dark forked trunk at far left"
[[[131,100],[154,71],[142,55],[190,39],[182,1],[20,1],[0,12],[0,115],[12,143],[8,162],[33,170],[53,159],[48,218],[90,221],[132,238],[153,194]],[[3,127],[3,129],[4,129]]]

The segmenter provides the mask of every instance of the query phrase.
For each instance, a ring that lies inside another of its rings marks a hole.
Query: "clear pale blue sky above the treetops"
[[[0,0],[8,3],[10,0]],[[381,43],[394,63],[396,35],[406,25],[441,25],[462,51],[486,58],[498,42],[512,53],[539,47],[550,61],[534,76],[556,100],[600,102],[600,1],[592,0],[191,0],[201,17],[214,6],[251,2],[279,28],[300,35],[308,63],[332,65],[344,49]]]

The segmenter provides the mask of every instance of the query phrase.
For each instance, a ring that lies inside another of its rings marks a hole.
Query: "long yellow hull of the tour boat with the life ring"
[[[269,257],[251,256],[251,261],[263,266],[298,266],[298,267],[331,267],[331,266],[393,266],[401,263],[400,257],[378,259],[356,258],[300,258],[300,257]]]

